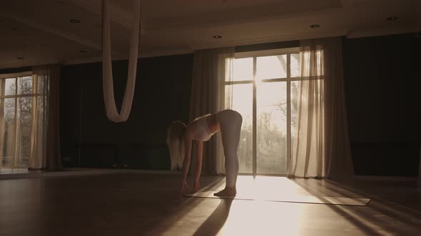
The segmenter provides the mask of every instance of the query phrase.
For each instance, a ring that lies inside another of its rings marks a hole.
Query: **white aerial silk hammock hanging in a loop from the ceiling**
[[[111,38],[110,38],[110,17],[108,12],[108,1],[103,0],[103,32],[102,32],[102,82],[103,102],[106,107],[106,115],[112,122],[126,122],[131,111],[133,102],[134,87],[136,84],[136,68],[138,62],[139,26],[141,21],[141,1],[134,0],[134,15],[131,29],[131,44],[128,58],[128,73],[126,91],[124,92],[123,104],[120,113],[117,112],[114,99],[113,68],[111,65]]]

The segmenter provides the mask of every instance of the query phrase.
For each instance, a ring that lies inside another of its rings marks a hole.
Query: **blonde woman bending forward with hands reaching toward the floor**
[[[200,188],[199,178],[201,177],[203,159],[203,141],[220,130],[222,137],[223,153],[225,156],[226,183],[223,191],[214,193],[216,196],[237,194],[235,188],[238,175],[238,142],[240,141],[241,124],[243,117],[240,113],[231,109],[225,109],[213,114],[206,114],[196,118],[187,126],[183,122],[173,122],[168,129],[167,144],[171,154],[171,169],[183,168],[183,182],[181,193],[188,188],[186,183],[188,169],[190,168],[191,147],[196,145],[198,165],[193,183],[193,192]]]

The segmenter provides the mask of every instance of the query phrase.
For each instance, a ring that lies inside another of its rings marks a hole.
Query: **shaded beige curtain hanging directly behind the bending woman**
[[[189,122],[204,114],[218,112],[225,106],[224,81],[231,80],[234,48],[196,50],[194,53],[193,82]],[[204,174],[223,173],[223,154],[220,136],[214,135],[203,145]],[[191,166],[196,167],[196,150],[193,148]]]

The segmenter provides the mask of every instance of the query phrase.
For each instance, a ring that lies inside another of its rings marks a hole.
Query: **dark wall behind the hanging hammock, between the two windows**
[[[118,110],[127,61],[113,62]],[[101,63],[66,65],[61,80],[61,154],[66,166],[169,169],[166,130],[188,120],[193,54],[138,60],[127,122],[106,118]]]

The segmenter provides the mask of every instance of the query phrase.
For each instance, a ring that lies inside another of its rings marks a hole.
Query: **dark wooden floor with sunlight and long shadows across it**
[[[366,206],[187,198],[176,174],[0,180],[0,235],[420,235],[414,183],[239,176],[238,192],[371,198]],[[190,183],[191,184],[191,183]],[[222,177],[203,177],[207,190]]]

